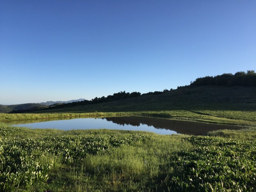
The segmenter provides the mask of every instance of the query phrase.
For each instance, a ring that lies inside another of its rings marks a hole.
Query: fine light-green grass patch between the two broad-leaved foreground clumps
[[[186,137],[153,134],[150,140],[143,143],[115,148],[111,154],[87,156],[73,165],[59,161],[55,163],[46,184],[35,183],[29,190],[155,191],[156,187],[160,187],[161,179],[181,171],[170,164],[170,159],[192,148]],[[26,190],[20,188],[17,191]]]

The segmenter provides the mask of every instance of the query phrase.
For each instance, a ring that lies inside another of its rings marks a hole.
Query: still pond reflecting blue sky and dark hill
[[[52,128],[61,130],[72,129],[116,129],[131,131],[149,131],[157,134],[193,134],[204,135],[209,131],[219,129],[241,129],[238,126],[206,124],[191,121],[169,120],[152,117],[104,117],[104,118],[77,118],[54,120],[37,123],[12,124],[28,128]]]

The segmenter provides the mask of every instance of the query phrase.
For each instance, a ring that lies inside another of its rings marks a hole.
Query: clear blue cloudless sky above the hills
[[[163,91],[256,70],[255,10],[255,0],[2,0],[0,104]]]

